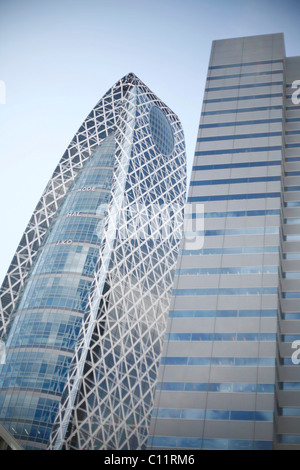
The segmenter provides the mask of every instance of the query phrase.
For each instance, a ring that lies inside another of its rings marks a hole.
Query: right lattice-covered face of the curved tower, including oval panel
[[[78,343],[74,359],[74,369],[81,375],[82,357],[87,357],[77,388],[78,405],[72,416],[68,397],[63,397],[50,439],[52,449],[63,445],[125,450],[144,448],[147,439],[182,231],[184,142],[177,117],[144,88],[133,88],[128,107],[128,127],[122,129],[126,139],[116,153],[120,166],[116,165],[116,191],[109,207],[109,214],[118,217],[117,231],[112,238],[109,219],[108,243],[100,250],[97,268],[104,294],[99,298],[97,290],[89,302],[84,340]],[[129,142],[130,156],[128,149],[123,151]],[[170,225],[163,208],[170,209]],[[107,277],[105,266],[109,266]],[[71,380],[68,385],[68,393],[77,387]],[[67,427],[62,437],[59,430]]]

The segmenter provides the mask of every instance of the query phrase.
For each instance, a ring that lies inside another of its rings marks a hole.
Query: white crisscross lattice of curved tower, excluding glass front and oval
[[[168,156],[151,135],[154,105],[173,131]],[[2,286],[2,333],[68,188],[111,132],[115,169],[98,268],[49,449],[141,449],[148,435],[183,223],[186,162],[177,116],[135,75],[96,105],[47,185]]]

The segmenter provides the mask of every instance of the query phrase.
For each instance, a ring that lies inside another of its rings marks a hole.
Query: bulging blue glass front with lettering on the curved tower
[[[40,249],[11,324],[7,362],[0,366],[1,419],[24,442],[49,441],[98,260],[103,220],[99,209],[108,202],[106,189],[112,184],[112,170],[103,166],[113,165],[114,154],[111,134],[79,172]],[[79,211],[90,216],[82,217]],[[33,392],[48,398],[31,399]]]

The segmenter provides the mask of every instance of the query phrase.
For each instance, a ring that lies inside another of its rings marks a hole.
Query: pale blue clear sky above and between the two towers
[[[115,82],[134,72],[177,113],[190,175],[212,41],[279,32],[300,55],[300,0],[0,0],[0,284],[59,159]]]

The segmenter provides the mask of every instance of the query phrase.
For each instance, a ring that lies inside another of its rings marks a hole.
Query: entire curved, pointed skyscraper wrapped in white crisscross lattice
[[[127,75],[71,141],[1,289],[0,421],[25,449],[145,446],[185,185],[177,116]]]

